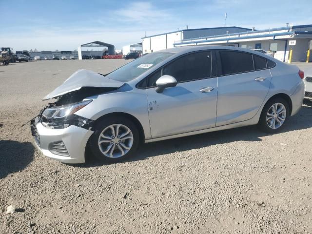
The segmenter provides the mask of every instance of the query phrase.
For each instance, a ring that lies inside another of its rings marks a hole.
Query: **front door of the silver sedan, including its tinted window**
[[[215,127],[217,78],[213,55],[211,51],[199,51],[179,57],[148,78],[153,138]],[[176,87],[157,93],[155,82],[161,75],[176,78]]]

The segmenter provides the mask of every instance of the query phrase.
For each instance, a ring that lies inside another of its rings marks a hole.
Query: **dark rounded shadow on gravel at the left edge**
[[[15,140],[0,140],[0,149],[0,179],[27,167],[35,152],[32,143]]]

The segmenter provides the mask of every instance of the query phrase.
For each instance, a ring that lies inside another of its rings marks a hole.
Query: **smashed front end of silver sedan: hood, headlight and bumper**
[[[78,111],[124,83],[87,70],[78,70],[43,100],[55,99],[31,120],[30,127],[43,155],[65,163],[85,162],[85,147],[94,133],[94,120]],[[92,109],[92,108],[91,108]]]

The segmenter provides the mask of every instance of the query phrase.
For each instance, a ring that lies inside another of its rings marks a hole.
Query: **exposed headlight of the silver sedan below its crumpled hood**
[[[88,105],[92,100],[76,102],[63,106],[54,106],[47,108],[42,113],[41,123],[50,128],[67,128],[74,124],[88,129],[91,127],[91,121],[84,117],[74,115],[78,110]]]

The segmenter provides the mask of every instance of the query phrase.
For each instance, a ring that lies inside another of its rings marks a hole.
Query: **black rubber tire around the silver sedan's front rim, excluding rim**
[[[117,158],[105,156],[104,154],[102,154],[98,146],[99,135],[106,127],[112,124],[122,124],[128,127],[131,130],[132,135],[133,135],[132,148],[125,155],[117,157]],[[119,162],[119,161],[125,160],[126,158],[129,158],[136,152],[137,147],[140,142],[139,132],[138,132],[137,126],[131,120],[125,117],[118,117],[118,116],[103,117],[96,123],[96,125],[94,126],[94,129],[95,129],[95,132],[90,137],[89,144],[90,144],[92,153],[98,160],[103,161],[103,162],[109,162],[109,163]]]

